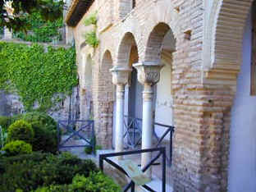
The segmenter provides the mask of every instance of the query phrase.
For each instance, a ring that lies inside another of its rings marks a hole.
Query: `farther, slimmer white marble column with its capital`
[[[110,71],[112,72],[112,83],[117,85],[115,152],[121,152],[123,151],[124,135],[125,86],[131,69],[124,66],[114,66]],[[121,158],[118,157],[118,159]]]

